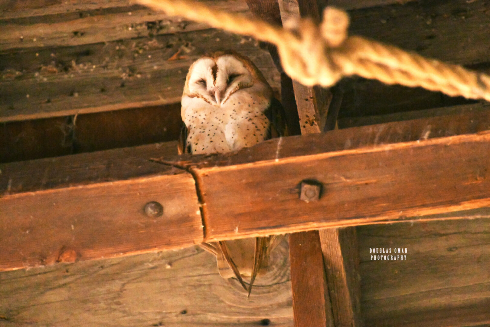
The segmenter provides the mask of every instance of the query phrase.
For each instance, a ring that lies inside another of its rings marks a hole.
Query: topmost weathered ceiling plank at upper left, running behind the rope
[[[36,5],[32,2],[10,7],[4,5],[7,10],[0,17],[3,32],[0,51],[77,46],[209,27],[169,17],[131,1],[71,2],[46,6],[37,4],[38,8],[33,8]],[[248,13],[243,0],[207,1],[207,4],[228,12]]]

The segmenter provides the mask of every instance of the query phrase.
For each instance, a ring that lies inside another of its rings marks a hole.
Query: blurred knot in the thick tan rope
[[[348,24],[347,14],[332,7],[323,11],[320,26],[311,19],[285,22],[288,42],[278,44],[284,71],[303,85],[335,84],[342,78],[342,70],[334,64],[331,49],[343,44]]]

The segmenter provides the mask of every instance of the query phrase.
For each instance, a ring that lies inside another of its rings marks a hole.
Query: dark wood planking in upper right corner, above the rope
[[[349,34],[457,64],[488,62],[485,1],[413,1],[349,11]]]

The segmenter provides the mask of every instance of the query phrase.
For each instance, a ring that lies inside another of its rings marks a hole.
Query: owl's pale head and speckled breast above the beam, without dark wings
[[[266,113],[272,99],[270,85],[248,58],[217,52],[198,59],[182,95],[183,152],[228,152],[270,138]]]

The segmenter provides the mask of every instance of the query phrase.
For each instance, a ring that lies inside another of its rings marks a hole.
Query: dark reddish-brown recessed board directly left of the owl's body
[[[0,162],[173,141],[180,103],[0,125]],[[172,152],[173,153],[173,152]]]

